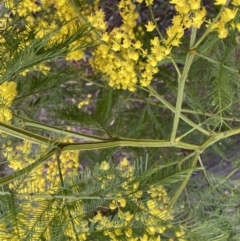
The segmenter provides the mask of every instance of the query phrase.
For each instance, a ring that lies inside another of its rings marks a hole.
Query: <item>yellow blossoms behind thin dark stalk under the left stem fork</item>
[[[70,138],[65,138],[69,143],[73,142]],[[30,142],[24,141],[22,145],[16,147],[16,151],[13,148],[8,148],[4,155],[9,160],[9,167],[14,171],[21,170],[28,165],[35,162],[35,159],[40,158],[41,154],[46,151],[46,146],[39,147],[39,154],[33,155],[34,145]],[[66,151],[60,155],[61,171],[63,178],[71,173],[71,175],[77,174],[77,168],[79,151]],[[10,188],[19,188],[20,193],[45,193],[46,190],[51,191],[51,188],[58,187],[60,185],[58,164],[56,156],[53,156],[46,163],[34,169],[26,179],[26,181],[18,183],[15,181],[9,184]],[[70,172],[71,171],[71,172]]]

